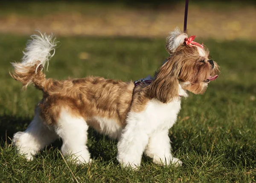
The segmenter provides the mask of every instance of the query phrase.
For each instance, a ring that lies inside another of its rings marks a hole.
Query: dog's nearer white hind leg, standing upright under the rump
[[[86,146],[87,129],[88,125],[83,117],[71,114],[67,108],[61,110],[55,129],[63,141],[61,152],[78,164],[91,161]]]

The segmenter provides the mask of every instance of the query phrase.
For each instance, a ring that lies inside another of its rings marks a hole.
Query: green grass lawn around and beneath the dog
[[[204,95],[183,100],[170,130],[174,155],[182,167],[157,166],[143,157],[137,172],[121,169],[116,141],[90,129],[90,166],[65,163],[61,141],[27,162],[15,154],[13,133],[23,131],[33,117],[41,92],[13,80],[9,62],[20,60],[28,37],[0,34],[0,182],[255,182],[256,181],[256,46],[253,42],[204,40],[221,66],[219,78]],[[137,80],[167,56],[164,40],[133,38],[61,38],[47,77],[98,75]],[[86,52],[87,60],[79,59]],[[70,168],[70,169],[69,169]],[[72,175],[72,173],[74,176]]]

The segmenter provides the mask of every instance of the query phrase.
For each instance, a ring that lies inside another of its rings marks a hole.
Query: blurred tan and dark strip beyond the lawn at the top
[[[256,39],[255,0],[190,0],[189,34]],[[185,0],[2,1],[0,32],[61,36],[166,37],[183,29]]]

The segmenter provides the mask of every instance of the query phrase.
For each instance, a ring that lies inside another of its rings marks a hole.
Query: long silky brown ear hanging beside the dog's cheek
[[[164,63],[154,76],[154,81],[147,86],[148,95],[151,98],[156,98],[162,103],[168,103],[175,97],[179,96],[178,76],[180,73],[180,64],[174,62],[170,57]]]

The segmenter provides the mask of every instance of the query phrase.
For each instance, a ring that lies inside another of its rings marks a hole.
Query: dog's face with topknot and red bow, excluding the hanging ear
[[[207,48],[194,42],[195,36],[179,29],[172,31],[166,39],[166,50],[170,54],[169,67],[183,89],[194,94],[203,94],[208,83],[218,77],[218,65],[209,58]]]

